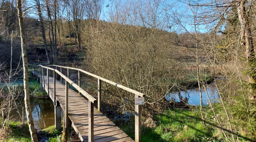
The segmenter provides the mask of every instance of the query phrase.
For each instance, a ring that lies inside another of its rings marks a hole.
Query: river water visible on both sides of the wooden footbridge
[[[22,82],[22,81],[21,81]],[[17,83],[17,82],[16,82]],[[20,82],[18,82],[19,84]],[[210,84],[206,90],[203,90],[203,105],[208,105],[209,100],[206,95],[206,91],[210,97],[211,102],[218,102],[219,93],[216,89],[216,84],[213,82]],[[185,98],[189,97],[188,104],[190,105],[200,105],[200,91],[198,87],[191,88],[189,90],[180,91],[181,96]],[[166,100],[170,100],[170,98],[175,99],[176,102],[180,102],[178,92],[169,93],[165,96]],[[19,103],[18,108],[11,111],[10,116],[14,121],[22,121],[22,117],[24,117],[24,121],[26,121],[26,113],[24,110],[24,99],[18,99]],[[30,104],[32,115],[34,118],[34,124],[37,131],[40,131],[43,128],[54,125],[54,105],[52,100],[50,99],[37,99],[34,97],[30,97]],[[20,112],[20,115],[19,113]],[[63,112],[62,112],[63,114]]]

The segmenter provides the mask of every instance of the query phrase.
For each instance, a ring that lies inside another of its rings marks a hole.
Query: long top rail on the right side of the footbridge
[[[85,74],[88,74],[88,75],[90,75],[90,76],[92,76],[92,77],[98,78],[98,79],[100,79],[100,80],[102,80],[102,81],[105,81],[105,82],[107,82],[107,83],[109,83],[109,84],[112,84],[112,85],[114,85],[114,86],[116,86],[116,87],[119,87],[119,88],[121,88],[121,89],[123,89],[123,90],[126,90],[126,91],[128,91],[128,92],[134,93],[135,95],[138,95],[138,96],[141,96],[141,97],[144,97],[144,96],[145,96],[145,94],[143,94],[143,93],[140,93],[140,92],[138,92],[138,91],[136,91],[136,90],[133,90],[133,89],[130,89],[130,88],[125,87],[125,86],[123,86],[123,85],[120,85],[120,84],[118,84],[118,83],[115,83],[115,82],[113,82],[113,81],[107,80],[107,79],[105,79],[105,78],[103,78],[103,77],[99,77],[98,75],[89,73],[89,72],[84,71],[84,70],[82,70],[82,69],[80,69],[80,68],[71,68],[71,67],[65,67],[65,66],[59,66],[59,65],[50,65],[50,66],[57,66],[57,67],[61,67],[61,68],[69,68],[69,69],[72,69],[72,70],[81,71],[81,72],[83,72],[83,73],[85,73]]]

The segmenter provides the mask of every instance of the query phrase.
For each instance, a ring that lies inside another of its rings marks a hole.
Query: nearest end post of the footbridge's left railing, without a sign
[[[88,101],[88,141],[93,142],[94,139],[94,117],[93,117],[93,103]]]

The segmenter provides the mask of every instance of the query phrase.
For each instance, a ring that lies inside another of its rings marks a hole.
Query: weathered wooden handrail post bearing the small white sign
[[[135,95],[135,98],[140,97],[139,95]],[[135,105],[135,142],[140,142],[140,112],[141,112],[141,105]]]

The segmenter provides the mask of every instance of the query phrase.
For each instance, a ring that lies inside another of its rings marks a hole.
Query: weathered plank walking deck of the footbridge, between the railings
[[[35,71],[32,71],[35,74]],[[40,77],[40,74],[38,74]],[[44,86],[47,92],[47,76],[44,76]],[[53,77],[49,77],[49,96],[53,100]],[[74,90],[68,90],[68,115],[72,127],[81,141],[88,141],[88,101]],[[47,92],[48,93],[48,92]],[[65,110],[65,85],[56,80],[56,100],[62,110]],[[117,125],[94,107],[94,142],[131,142],[132,140]]]

